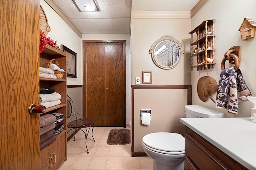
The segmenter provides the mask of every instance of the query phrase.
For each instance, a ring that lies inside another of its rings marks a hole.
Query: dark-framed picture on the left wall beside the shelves
[[[71,49],[69,49],[68,47],[64,46],[63,44],[60,45],[60,49],[61,49],[61,51],[66,53],[67,77],[76,78],[77,77],[77,75],[76,75],[76,73],[77,73],[77,68],[76,68],[77,54],[74,51],[72,51]]]

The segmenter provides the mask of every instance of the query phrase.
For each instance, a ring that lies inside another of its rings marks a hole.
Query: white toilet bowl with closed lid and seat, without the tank
[[[142,138],[144,152],[154,160],[154,170],[184,169],[184,143],[178,133],[156,132]]]

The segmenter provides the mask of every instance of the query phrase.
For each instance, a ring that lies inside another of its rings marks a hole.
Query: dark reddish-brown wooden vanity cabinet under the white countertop
[[[236,160],[185,126],[185,170],[246,170]]]

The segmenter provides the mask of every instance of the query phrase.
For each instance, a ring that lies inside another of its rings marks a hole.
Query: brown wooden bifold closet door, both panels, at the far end
[[[95,126],[126,126],[126,59],[124,43],[87,43],[84,81],[86,117]]]

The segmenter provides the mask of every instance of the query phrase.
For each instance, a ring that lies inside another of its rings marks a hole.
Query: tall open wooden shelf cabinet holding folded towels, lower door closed
[[[46,45],[44,51],[40,54],[40,67],[47,67],[49,61],[51,59],[56,59],[60,65],[60,68],[66,71],[66,53],[51,47],[50,45]],[[54,107],[50,107],[46,109],[45,113],[47,114],[50,111],[54,111],[57,113],[62,113],[65,115],[65,119],[63,120],[63,125],[65,126],[62,132],[58,134],[57,139],[41,150],[41,169],[51,169],[55,170],[58,166],[66,160],[66,72],[62,79],[47,79],[40,78],[40,89],[44,89],[49,87],[54,89],[55,92],[59,93],[62,98],[60,99],[60,105],[56,105]]]

